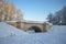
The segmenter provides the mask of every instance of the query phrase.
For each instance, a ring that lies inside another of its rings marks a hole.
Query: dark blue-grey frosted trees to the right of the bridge
[[[54,14],[50,13],[47,15],[47,22],[56,25],[66,25],[66,7],[55,12]]]

